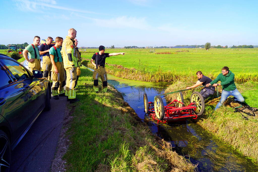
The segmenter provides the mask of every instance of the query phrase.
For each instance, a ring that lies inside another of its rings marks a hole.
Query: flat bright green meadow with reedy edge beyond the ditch
[[[197,71],[211,74],[215,78],[223,66],[228,66],[236,74],[237,81],[258,81],[258,49],[187,49],[189,52],[176,52],[182,49],[106,49],[106,53],[126,52],[125,56],[106,59],[107,72],[120,78],[148,82],[172,82],[182,76],[195,75]],[[90,59],[97,49],[87,49],[82,57]],[[156,54],[169,52],[172,54]],[[123,67],[128,68],[124,70]]]

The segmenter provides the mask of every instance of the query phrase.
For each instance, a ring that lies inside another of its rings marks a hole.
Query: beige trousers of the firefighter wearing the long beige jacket
[[[76,98],[75,82],[77,78],[77,67],[65,68],[66,70],[66,90],[65,95],[68,96],[68,99]],[[72,71],[73,70],[73,71]]]

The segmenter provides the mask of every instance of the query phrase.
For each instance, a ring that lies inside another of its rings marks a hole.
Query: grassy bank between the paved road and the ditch
[[[71,145],[65,155],[68,171],[194,171],[194,166],[152,135],[113,87],[92,91],[92,72],[82,67]]]

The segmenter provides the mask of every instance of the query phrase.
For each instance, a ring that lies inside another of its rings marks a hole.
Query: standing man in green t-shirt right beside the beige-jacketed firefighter
[[[63,38],[57,37],[55,38],[55,45],[49,49],[49,55],[52,63],[52,94],[55,100],[59,99],[58,96],[65,96],[65,69],[60,47],[62,46],[62,43]]]

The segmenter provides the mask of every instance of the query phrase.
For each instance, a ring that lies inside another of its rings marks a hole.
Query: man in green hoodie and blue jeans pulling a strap
[[[212,84],[213,84],[212,86],[214,87],[217,87],[218,85],[222,85],[221,99],[214,110],[218,109],[229,96],[234,96],[234,99],[236,101],[240,101],[240,102],[245,101],[244,97],[237,90],[234,79],[235,79],[235,74],[233,74],[227,66],[224,66],[221,70],[221,73],[217,76],[217,78],[212,82],[210,82],[209,84],[206,84],[206,87]],[[221,81],[221,83],[217,84],[218,81]]]

